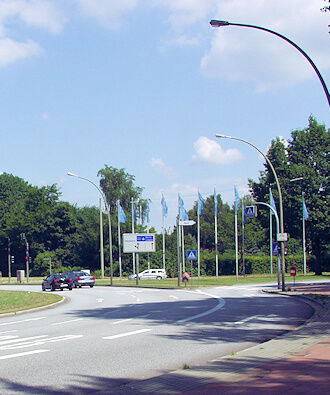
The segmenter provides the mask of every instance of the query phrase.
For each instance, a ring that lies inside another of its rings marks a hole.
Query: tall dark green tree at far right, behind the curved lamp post
[[[330,241],[330,131],[325,125],[319,125],[309,118],[309,126],[291,133],[287,147],[277,138],[273,140],[267,153],[280,179],[285,230],[293,238],[301,239],[302,228],[302,192],[305,193],[309,219],[306,223],[307,239],[316,257],[315,273],[321,274],[322,260]],[[290,180],[303,177],[301,183]],[[253,197],[258,201],[269,201],[268,189],[273,182],[273,175],[265,164],[259,182],[250,180]],[[274,198],[277,190],[274,190]],[[266,225],[266,217],[260,220]]]

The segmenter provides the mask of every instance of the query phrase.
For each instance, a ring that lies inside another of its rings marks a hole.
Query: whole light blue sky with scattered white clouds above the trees
[[[214,193],[248,193],[272,139],[289,139],[329,104],[309,62],[257,29],[288,37],[330,85],[330,12],[323,0],[0,0],[0,171],[61,200],[98,205],[105,165],[135,177],[161,231],[178,194],[188,211]]]

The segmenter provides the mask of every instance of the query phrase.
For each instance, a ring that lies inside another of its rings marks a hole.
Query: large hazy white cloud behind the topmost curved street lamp
[[[321,3],[320,3],[321,4]],[[229,0],[218,2],[214,19],[258,25],[302,46],[318,67],[329,68],[329,52],[319,37],[327,32],[327,16],[314,0]],[[302,54],[285,40],[248,27],[215,28],[210,50],[201,62],[211,78],[253,83],[257,91],[293,85],[315,78]]]

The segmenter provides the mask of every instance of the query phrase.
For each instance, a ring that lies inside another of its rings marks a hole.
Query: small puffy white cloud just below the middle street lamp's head
[[[202,136],[194,143],[194,162],[204,162],[213,165],[228,165],[243,159],[242,153],[234,148],[225,151],[221,145],[209,138]]]

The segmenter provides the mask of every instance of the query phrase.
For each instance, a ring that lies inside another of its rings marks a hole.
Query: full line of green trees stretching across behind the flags
[[[329,270],[330,261],[330,197],[329,197],[329,130],[318,124],[313,117],[303,130],[291,133],[288,142],[275,138],[267,152],[281,183],[284,206],[285,231],[289,234],[287,245],[291,262],[302,254],[302,193],[304,193],[309,217],[306,221],[306,249],[310,270],[321,274]],[[143,188],[135,185],[135,177],[105,165],[98,172],[100,188],[111,211],[114,276],[118,267],[118,217],[117,201],[127,214],[127,222],[121,224],[121,234],[131,233],[131,201],[139,201],[139,223],[136,233],[146,232],[145,218],[148,201],[142,198]],[[297,180],[292,182],[292,180]],[[242,197],[244,205],[253,201],[268,202],[270,188],[275,202],[278,191],[274,187],[274,176],[267,163],[260,172],[258,181],[249,180],[250,194]],[[0,271],[8,275],[9,262],[13,275],[25,269],[26,243],[29,245],[30,275],[44,276],[49,272],[51,258],[53,271],[88,268],[100,271],[100,213],[96,206],[77,207],[61,201],[61,192],[56,184],[36,187],[12,174],[0,175]],[[221,195],[209,196],[205,200],[200,216],[201,274],[215,275],[215,229],[214,207],[217,199],[219,274],[234,274],[235,207],[222,201]],[[278,207],[277,207],[278,209]],[[188,211],[190,219],[197,220],[198,202]],[[109,235],[104,213],[105,262],[109,262]],[[242,216],[239,215],[240,248],[242,245]],[[248,272],[268,270],[269,265],[269,210],[259,209],[258,216],[244,224],[244,251]],[[156,233],[154,228],[150,232]],[[25,239],[22,239],[25,234]],[[155,253],[141,254],[140,269],[162,267],[162,234],[156,234]],[[176,229],[165,234],[166,269],[170,276],[177,275]],[[186,249],[196,249],[197,227],[185,229]],[[293,257],[292,257],[293,255]],[[264,269],[261,268],[261,263]],[[290,262],[290,260],[289,260]],[[250,265],[250,266],[249,266]],[[251,265],[254,267],[251,268]],[[265,269],[267,267],[267,269]],[[132,255],[122,254],[123,275],[132,273]],[[106,266],[106,274],[109,267]]]

